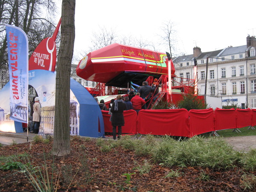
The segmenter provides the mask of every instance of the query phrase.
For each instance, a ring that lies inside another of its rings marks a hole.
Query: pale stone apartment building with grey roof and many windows
[[[178,81],[195,78],[197,61],[198,94],[205,95],[212,108],[238,104],[256,108],[256,38],[247,36],[246,45],[173,58]],[[208,62],[207,62],[208,58]],[[208,68],[208,69],[207,69]]]

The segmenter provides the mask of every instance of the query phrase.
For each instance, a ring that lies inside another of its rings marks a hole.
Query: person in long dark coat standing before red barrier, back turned
[[[126,109],[126,105],[122,100],[122,96],[116,96],[116,100],[113,102],[111,107],[112,113],[112,126],[113,126],[113,139],[116,140],[116,126],[118,127],[118,136],[117,139],[120,139],[122,134],[122,126],[125,125],[125,119],[123,112]]]

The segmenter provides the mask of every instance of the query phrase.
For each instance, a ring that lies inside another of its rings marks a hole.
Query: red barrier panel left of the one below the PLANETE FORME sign
[[[214,111],[212,108],[189,111],[190,137],[215,131]]]

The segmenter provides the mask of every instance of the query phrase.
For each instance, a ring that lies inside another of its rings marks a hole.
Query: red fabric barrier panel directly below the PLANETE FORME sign
[[[215,115],[215,131],[222,129],[236,128],[236,110],[216,108]]]

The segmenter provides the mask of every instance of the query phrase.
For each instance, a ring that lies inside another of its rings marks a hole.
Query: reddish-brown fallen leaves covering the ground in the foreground
[[[48,173],[51,174],[52,156],[50,155],[52,143],[29,143],[4,146],[0,148],[0,156],[9,156],[28,153],[33,166],[44,165],[44,155],[47,158]],[[83,146],[83,147],[81,147]],[[20,150],[22,149],[22,150]],[[211,170],[201,167],[171,168],[159,166],[151,162],[150,157],[137,157],[134,151],[114,148],[110,152],[102,153],[96,140],[72,140],[71,153],[67,157],[55,157],[55,173],[61,169],[59,191],[66,191],[70,183],[66,181],[73,178],[69,191],[96,191],[96,192],[118,192],[118,191],[243,191],[240,187],[240,179],[243,172],[239,169]],[[45,152],[43,152],[45,151]],[[45,153],[45,154],[44,154]],[[143,165],[147,160],[151,164],[148,173],[141,174],[135,169],[134,162]],[[79,171],[76,173],[77,169]],[[179,177],[166,177],[171,171],[177,171]],[[200,174],[209,175],[209,181],[199,180]],[[67,173],[64,174],[64,171]],[[0,170],[0,191],[33,191],[28,179],[21,173],[14,174],[17,170]],[[125,183],[131,175],[130,184]],[[56,175],[56,174],[54,174]],[[70,177],[70,178],[65,178]],[[18,182],[16,182],[18,180]],[[14,185],[15,183],[15,185]]]

